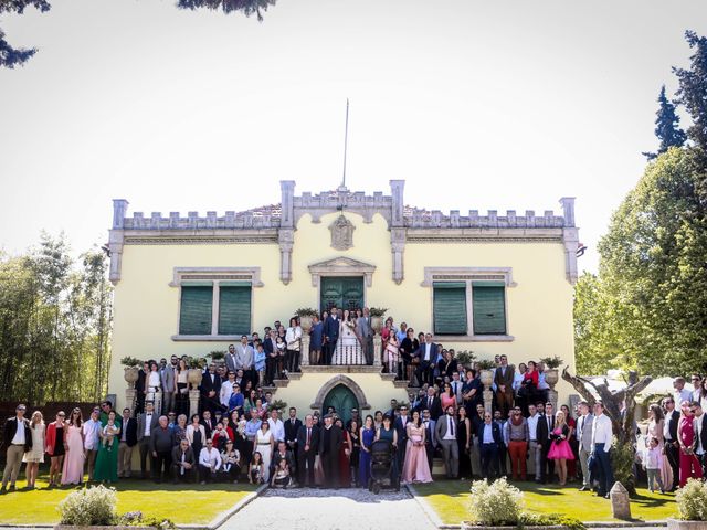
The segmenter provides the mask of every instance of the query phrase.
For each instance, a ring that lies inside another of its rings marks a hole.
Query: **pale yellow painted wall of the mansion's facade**
[[[317,289],[312,285],[307,266],[337,256],[376,265],[372,286],[366,288],[366,304],[389,308],[388,315],[393,316],[397,324],[404,320],[415,331],[430,330],[432,325],[431,288],[421,286],[425,266],[511,267],[517,285],[507,288],[507,328],[515,340],[440,341],[445,347],[471,349],[479,358],[506,353],[510,362],[518,363],[557,354],[573,367],[572,286],[566,279],[561,243],[408,243],[405,279],[395,285],[386,220],[377,214],[373,222],[367,224],[359,215],[346,213],[356,225],[354,247],[339,252],[330,247],[328,229],[337,215],[325,215],[320,223],[313,223],[309,215],[299,220],[293,251],[293,279],[288,285],[279,280],[277,244],[126,245],[122,279],[115,287],[109,381],[110,392],[117,394],[119,405],[124,403],[126,386],[119,363],[123,357],[159,359],[172,353],[203,357],[209,351],[225,349],[225,342],[177,342],[171,339],[178,330],[179,307],[179,289],[169,285],[175,267],[260,266],[264,286],[253,289],[252,318],[254,330],[261,332],[274,320],[286,322],[298,307],[318,307]],[[325,375],[329,374],[306,374],[302,383],[293,382],[292,388],[287,392],[281,391],[278,398],[295,404],[295,400],[286,399],[285,394],[293,395],[295,389],[302,389],[297,391],[302,396],[296,402],[308,406]],[[384,389],[386,395],[369,398],[374,409],[386,406],[393,396],[392,384],[380,382],[379,388]],[[562,396],[569,393],[569,388],[562,383],[558,390]],[[400,393],[404,398],[404,391]],[[379,399],[381,403],[373,401]]]

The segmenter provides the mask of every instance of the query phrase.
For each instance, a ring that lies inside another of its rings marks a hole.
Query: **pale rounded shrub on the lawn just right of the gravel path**
[[[505,478],[488,484],[472,483],[471,510],[476,522],[482,524],[517,524],[523,509],[523,494]]]

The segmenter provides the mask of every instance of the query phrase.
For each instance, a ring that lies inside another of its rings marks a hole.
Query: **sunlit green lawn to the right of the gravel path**
[[[589,491],[579,491],[578,485],[560,487],[535,483],[511,483],[524,491],[525,510],[536,513],[566,513],[582,521],[611,521],[611,502]],[[415,485],[423,498],[445,524],[458,524],[469,519],[468,480],[439,479],[432,484]],[[631,515],[644,521],[665,519],[677,515],[673,494],[651,494],[639,489],[631,501]]]

